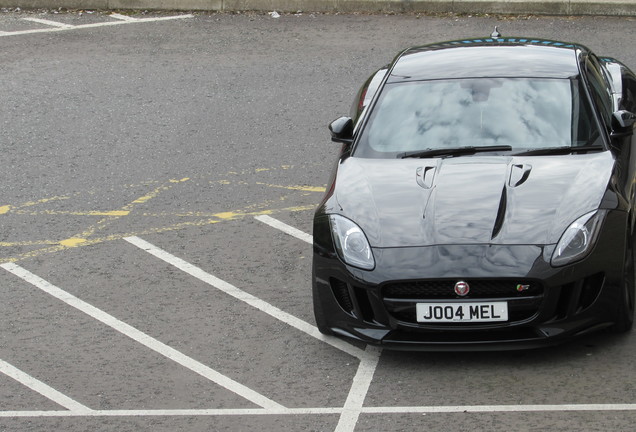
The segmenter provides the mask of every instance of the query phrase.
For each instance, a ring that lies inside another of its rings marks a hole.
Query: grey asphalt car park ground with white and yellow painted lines
[[[57,15],[3,16],[0,34],[148,18]],[[312,213],[338,151],[322,125],[405,44],[395,28],[437,40],[488,19],[164,21],[45,48],[3,39],[14,63],[0,72],[21,90],[0,84],[13,107],[0,120],[0,429],[633,429],[633,334],[405,353],[314,327]],[[554,25],[535,21],[507,25]],[[557,24],[573,37],[580,25]],[[54,51],[80,43],[87,62]]]

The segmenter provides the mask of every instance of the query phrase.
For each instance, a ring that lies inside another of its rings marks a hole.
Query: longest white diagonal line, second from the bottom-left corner
[[[77,297],[67,293],[66,291],[63,291],[62,289],[45,281],[39,276],[34,275],[33,273],[25,270],[17,264],[4,263],[1,264],[0,267],[27,281],[28,283],[41,289],[42,291],[52,295],[53,297],[62,300],[64,303],[73,306],[74,308],[84,312],[85,314],[95,318],[98,321],[101,321],[107,326],[128,336],[134,341],[139,342],[147,348],[150,348],[151,350],[179,363],[181,366],[198,373],[199,375],[222,387],[225,387],[226,389],[238,394],[239,396],[244,397],[250,402],[267,409],[284,409],[282,405],[272,401],[271,399],[268,399],[265,396],[255,392],[254,390],[244,386],[243,384],[240,384],[226,377],[225,375],[220,374],[214,369],[204,365],[203,363],[198,362],[197,360],[194,360],[191,357],[186,356],[180,351],[169,347],[168,345],[158,341],[157,339],[148,336],[147,334],[137,330],[136,328],[126,324],[125,322],[118,320],[114,316],[107,314],[101,309],[97,309],[96,307],[91,306],[85,301],[78,299]]]

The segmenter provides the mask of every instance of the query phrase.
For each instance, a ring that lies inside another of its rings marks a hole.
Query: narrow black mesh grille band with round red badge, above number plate
[[[396,299],[478,299],[498,297],[529,297],[541,295],[543,287],[534,281],[524,280],[466,280],[470,285],[470,292],[465,297],[455,294],[454,288],[457,279],[398,282],[384,286],[382,295],[386,298]],[[522,291],[517,286],[527,286]]]

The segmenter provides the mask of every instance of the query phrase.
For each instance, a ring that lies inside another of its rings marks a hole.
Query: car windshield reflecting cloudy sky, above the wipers
[[[578,80],[452,79],[387,84],[354,156],[396,158],[483,146],[510,146],[518,153],[601,144]]]

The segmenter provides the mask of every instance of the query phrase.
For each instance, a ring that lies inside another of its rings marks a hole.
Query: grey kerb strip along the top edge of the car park
[[[636,16],[636,0],[0,0],[0,7]]]

